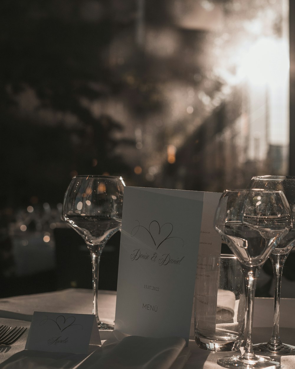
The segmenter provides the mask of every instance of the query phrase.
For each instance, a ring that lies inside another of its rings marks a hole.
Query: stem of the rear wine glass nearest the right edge
[[[280,295],[281,295],[281,283],[282,273],[285,261],[288,254],[271,254],[269,258],[273,264],[274,270],[274,325],[273,334],[270,339],[270,344],[278,345],[281,344],[279,323],[280,323]]]

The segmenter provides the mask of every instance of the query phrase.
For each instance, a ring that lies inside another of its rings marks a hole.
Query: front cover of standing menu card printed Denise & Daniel
[[[203,203],[204,192],[125,187],[115,330],[188,342]]]

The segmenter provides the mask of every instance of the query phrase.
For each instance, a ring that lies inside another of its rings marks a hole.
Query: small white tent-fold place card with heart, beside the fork
[[[101,345],[95,315],[34,311],[25,349],[87,354],[89,345]]]

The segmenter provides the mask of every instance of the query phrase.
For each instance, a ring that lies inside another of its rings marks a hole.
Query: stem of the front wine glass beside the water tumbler
[[[242,355],[244,359],[250,360],[255,357],[252,345],[252,326],[253,326],[253,313],[254,313],[254,297],[257,277],[260,272],[258,266],[244,266],[244,275],[246,278],[246,346],[245,352]]]

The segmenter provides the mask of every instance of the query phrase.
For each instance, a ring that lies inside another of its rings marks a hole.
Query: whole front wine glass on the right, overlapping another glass
[[[284,193],[258,189],[225,190],[215,214],[215,229],[236,255],[246,280],[246,345],[242,355],[223,357],[226,368],[279,368],[280,363],[254,354],[253,308],[261,266],[291,228]]]

